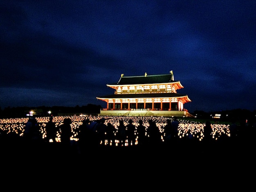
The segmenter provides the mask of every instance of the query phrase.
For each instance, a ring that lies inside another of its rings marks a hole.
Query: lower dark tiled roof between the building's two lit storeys
[[[97,98],[169,98],[169,97],[183,97],[186,95],[177,93],[148,93],[148,94],[113,94],[106,96],[99,96]]]

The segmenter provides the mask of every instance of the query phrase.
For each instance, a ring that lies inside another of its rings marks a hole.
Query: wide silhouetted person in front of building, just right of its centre
[[[159,128],[157,127],[155,121],[148,120],[149,126],[147,129],[147,133],[149,136],[149,144],[151,146],[157,146],[162,143],[161,133]]]

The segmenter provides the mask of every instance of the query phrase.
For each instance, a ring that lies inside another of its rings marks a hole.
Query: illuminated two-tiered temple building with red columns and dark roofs
[[[193,117],[184,109],[184,103],[191,102],[187,95],[178,94],[184,88],[169,74],[124,76],[117,83],[107,84],[115,94],[99,96],[107,103],[101,109],[101,116],[179,116]]]

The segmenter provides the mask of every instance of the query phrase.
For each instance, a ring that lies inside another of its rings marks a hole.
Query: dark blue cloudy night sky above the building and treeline
[[[189,112],[256,109],[256,1],[0,2],[0,107],[106,107],[125,76],[168,74]]]

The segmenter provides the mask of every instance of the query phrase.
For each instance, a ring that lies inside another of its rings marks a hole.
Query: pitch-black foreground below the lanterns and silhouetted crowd
[[[11,183],[12,189],[247,191],[255,183],[252,139],[80,150],[76,144],[67,150],[61,143],[12,139],[0,146],[1,175],[7,180],[1,184]]]

